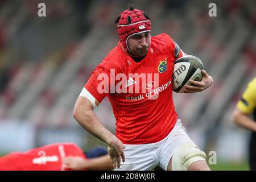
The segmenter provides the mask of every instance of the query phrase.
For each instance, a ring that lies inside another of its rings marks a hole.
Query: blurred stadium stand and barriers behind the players
[[[46,4],[46,17],[38,4]],[[210,17],[209,3],[217,5]],[[256,2],[0,0],[0,153],[54,142],[83,148],[103,144],[72,118],[90,73],[117,45],[114,20],[131,3],[151,17],[151,35],[166,32],[213,77],[205,92],[174,93],[188,134],[217,162],[247,159],[249,132],[231,120],[237,101],[256,76]],[[107,98],[96,109],[115,131]]]

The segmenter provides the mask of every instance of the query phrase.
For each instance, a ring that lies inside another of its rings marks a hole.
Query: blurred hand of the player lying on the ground
[[[75,171],[80,171],[85,169],[85,159],[80,156],[68,156],[64,158],[62,162],[65,164],[65,168],[69,168]]]

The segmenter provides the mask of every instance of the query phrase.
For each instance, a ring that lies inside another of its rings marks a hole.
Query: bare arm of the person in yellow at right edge
[[[236,123],[238,126],[245,127],[246,129],[256,131],[256,122],[253,121],[249,117],[249,115],[242,113],[239,109],[234,109],[233,111],[233,121]]]

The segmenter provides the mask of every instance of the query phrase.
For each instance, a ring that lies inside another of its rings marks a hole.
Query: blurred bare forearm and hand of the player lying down
[[[109,155],[100,156],[98,158],[84,159],[80,156],[68,156],[62,161],[65,166],[75,171],[88,170],[111,170],[113,169],[110,163]]]

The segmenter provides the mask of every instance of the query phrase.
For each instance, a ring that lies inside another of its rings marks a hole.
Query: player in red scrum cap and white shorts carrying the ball
[[[73,117],[108,144],[116,169],[209,170],[205,153],[188,137],[172,100],[174,61],[185,53],[167,34],[151,37],[150,18],[131,5],[115,23],[118,45],[92,72]],[[212,85],[212,77],[202,73],[203,79],[191,81],[185,93]],[[116,136],[93,112],[105,97],[113,107]]]

